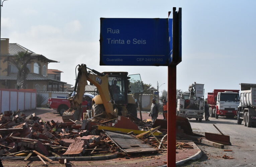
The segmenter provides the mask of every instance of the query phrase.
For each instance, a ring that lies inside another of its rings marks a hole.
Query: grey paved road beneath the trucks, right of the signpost
[[[248,128],[237,125],[236,119],[227,119],[219,117],[219,119],[209,118],[210,121],[202,121],[201,123],[195,119],[189,120],[193,131],[204,134],[204,132],[217,133],[219,131],[212,125],[215,124],[225,135],[230,136],[232,146],[225,146],[225,149],[233,150],[233,152],[224,152],[223,149],[208,147],[206,145],[198,145],[204,152],[199,160],[187,163],[183,166],[193,167],[233,167],[233,166],[256,166],[256,128]],[[223,159],[222,156],[227,153],[234,159]]]

